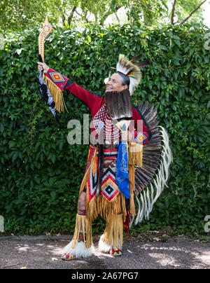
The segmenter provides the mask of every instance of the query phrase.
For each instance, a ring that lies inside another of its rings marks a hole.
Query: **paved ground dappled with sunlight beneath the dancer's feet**
[[[113,257],[99,251],[94,237],[95,255],[88,259],[62,261],[65,237],[0,237],[1,269],[209,269],[210,241],[188,237],[141,237],[126,239],[123,256]]]

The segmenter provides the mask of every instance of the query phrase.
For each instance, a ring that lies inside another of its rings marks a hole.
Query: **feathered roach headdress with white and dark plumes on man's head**
[[[139,55],[137,57],[134,57],[132,60],[128,60],[127,57],[125,57],[125,55],[123,54],[119,55],[116,70],[118,74],[120,74],[121,76],[123,74],[124,76],[127,76],[130,79],[130,83],[129,83],[130,95],[132,95],[134,89],[137,88],[137,85],[139,85],[139,82],[141,81],[142,73],[140,69],[150,64],[148,60],[136,62],[137,60],[139,60],[141,56],[142,55]],[[109,76],[110,75],[111,73],[109,73]],[[105,83],[106,82],[107,81],[105,80]]]

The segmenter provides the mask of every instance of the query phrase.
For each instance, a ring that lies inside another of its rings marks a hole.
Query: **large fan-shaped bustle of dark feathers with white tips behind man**
[[[144,145],[142,167],[135,169],[134,194],[139,209],[136,218],[133,216],[131,219],[130,227],[133,222],[137,225],[143,219],[149,219],[153,205],[167,186],[169,166],[173,158],[167,132],[158,125],[157,109],[154,109],[153,104],[148,106],[148,102],[141,102],[139,110],[144,115],[153,137]]]

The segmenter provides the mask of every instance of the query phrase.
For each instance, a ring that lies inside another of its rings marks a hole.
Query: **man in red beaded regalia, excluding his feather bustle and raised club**
[[[45,63],[38,62],[42,85],[41,73],[44,72],[51,92],[54,85],[61,91],[68,90],[85,103],[92,114],[92,144],[80,185],[75,232],[64,248],[64,260],[94,253],[91,226],[98,215],[106,219],[99,249],[113,256],[122,255],[123,227],[128,230],[130,215],[136,214],[135,165],[142,166],[143,146],[152,137],[144,116],[130,99],[141,80],[140,68],[149,64],[147,60],[134,64],[135,60],[119,56],[116,73],[106,79],[105,95],[85,90]],[[52,96],[53,106],[60,108],[62,102],[56,106],[57,99]]]

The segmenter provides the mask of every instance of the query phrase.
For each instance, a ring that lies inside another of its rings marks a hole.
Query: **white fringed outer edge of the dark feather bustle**
[[[160,127],[160,126],[159,126]],[[144,190],[143,193],[140,193],[139,198],[136,195],[137,203],[139,206],[136,220],[134,222],[134,217],[130,221],[130,228],[132,227],[132,223],[137,225],[137,223],[141,223],[143,219],[149,220],[149,215],[153,209],[153,205],[155,204],[156,200],[158,200],[160,194],[162,193],[163,189],[167,186],[167,179],[169,178],[169,166],[172,163],[173,156],[172,151],[169,147],[169,137],[167,131],[164,127],[161,128],[161,136],[162,136],[162,160],[160,161],[160,167],[158,168],[158,173],[155,174],[153,178],[154,186],[156,190],[156,195],[154,197],[154,187],[153,184],[149,184],[148,187]]]

